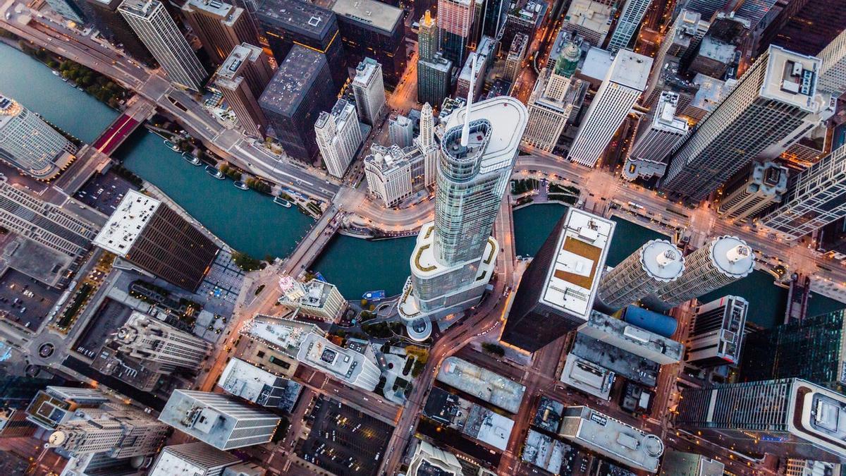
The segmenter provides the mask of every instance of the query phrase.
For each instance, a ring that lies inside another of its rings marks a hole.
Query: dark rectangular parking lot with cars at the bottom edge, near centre
[[[339,401],[319,398],[299,457],[335,474],[376,474],[393,428]]]

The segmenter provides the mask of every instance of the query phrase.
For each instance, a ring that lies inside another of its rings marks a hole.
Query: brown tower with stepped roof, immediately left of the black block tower
[[[186,3],[187,4],[187,3]],[[241,128],[250,136],[264,137],[267,119],[258,98],[270,82],[273,70],[260,47],[244,43],[233,47],[215,75],[219,89]]]

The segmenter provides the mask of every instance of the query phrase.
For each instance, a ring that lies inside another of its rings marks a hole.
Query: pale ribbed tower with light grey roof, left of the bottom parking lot
[[[159,421],[224,451],[267,443],[279,424],[279,418],[263,408],[197,390],[174,390]]]

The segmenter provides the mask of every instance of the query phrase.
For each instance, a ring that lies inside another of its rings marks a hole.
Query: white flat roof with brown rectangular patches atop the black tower
[[[614,222],[577,208],[569,208],[559,232],[541,302],[585,321],[605,268]]]

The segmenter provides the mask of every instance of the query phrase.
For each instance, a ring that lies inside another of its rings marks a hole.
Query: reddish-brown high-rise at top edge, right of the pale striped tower
[[[220,0],[187,0],[182,5],[182,14],[200,38],[212,64],[222,64],[241,43],[258,43],[258,31],[244,8]]]

